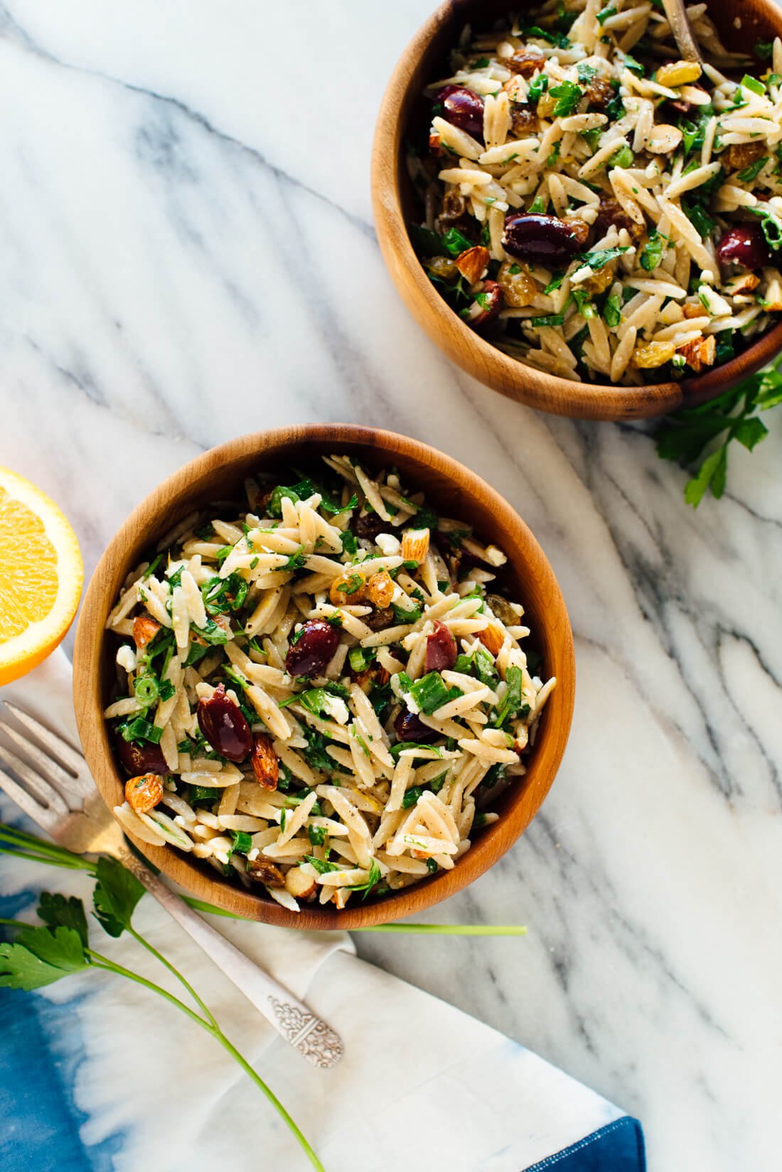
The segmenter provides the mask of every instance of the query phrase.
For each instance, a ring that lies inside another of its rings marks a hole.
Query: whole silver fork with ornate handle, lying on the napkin
[[[6,737],[23,754],[19,756],[0,741],[0,761],[15,774],[14,778],[0,770],[0,789],[68,850],[77,854],[110,854],[118,859],[286,1042],[314,1067],[334,1067],[342,1056],[340,1036],[206,924],[129,850],[120,824],[87,770],[84,758],[73,745],[16,704],[6,700],[5,706],[26,731],[20,731],[8,721],[0,723]]]

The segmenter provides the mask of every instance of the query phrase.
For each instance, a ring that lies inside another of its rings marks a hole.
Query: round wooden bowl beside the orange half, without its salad
[[[497,803],[498,822],[478,831],[453,871],[433,875],[397,894],[344,911],[310,906],[288,912],[263,894],[222,879],[209,864],[175,847],[136,845],[155,866],[200,899],[219,907],[290,928],[353,928],[383,924],[421,912],[465,887],[505,853],[538,811],[553,781],[567,741],[573,709],[573,640],[565,604],[540,546],[510,505],[478,476],[427,444],[390,431],[348,424],[284,428],[242,436],[204,452],[155,489],[120,529],[101,558],[82,606],[74,653],[74,702],[84,756],[110,808],[124,799],[124,781],[109,743],[103,708],[113,699],[116,642],[104,633],[122,582],[159,537],[193,507],[237,495],[259,470],[306,468],[321,455],[358,456],[369,469],[395,464],[408,484],[426,490],[436,507],[464,518],[483,539],[508,554],[504,582],[523,601],[530,642],[558,683],[540,718],[529,771]]]

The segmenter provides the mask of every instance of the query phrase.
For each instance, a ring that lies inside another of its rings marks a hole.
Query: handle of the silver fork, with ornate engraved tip
[[[321,1070],[336,1065],[342,1042],[325,1021],[188,907],[131,851],[120,847],[113,853],[307,1062]]]

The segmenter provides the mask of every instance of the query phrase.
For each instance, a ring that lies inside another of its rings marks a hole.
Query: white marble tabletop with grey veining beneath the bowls
[[[64,507],[88,572],[162,477],[263,427],[388,427],[504,493],[570,608],[573,732],[523,840],[431,919],[529,935],[359,953],[637,1115],[652,1172],[770,1168],[780,421],[693,512],[645,428],[536,415],[429,343],[368,190],[382,88],[428,8],[0,6],[0,462]]]

